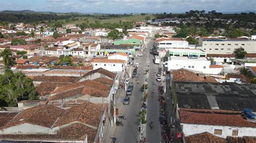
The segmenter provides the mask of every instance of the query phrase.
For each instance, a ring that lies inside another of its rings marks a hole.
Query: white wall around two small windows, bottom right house
[[[181,123],[185,137],[192,134],[209,132],[214,134],[214,130],[222,130],[222,134],[214,134],[221,138],[232,136],[232,131],[238,131],[238,136],[233,137],[256,137],[256,128],[253,127],[235,127],[235,126],[216,126],[216,125],[199,125],[199,124],[184,124]]]

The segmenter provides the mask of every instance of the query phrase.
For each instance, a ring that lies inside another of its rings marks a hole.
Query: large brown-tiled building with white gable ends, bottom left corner
[[[1,125],[0,140],[100,142],[104,122],[105,108],[99,104],[85,102],[71,108],[43,104],[12,113]]]

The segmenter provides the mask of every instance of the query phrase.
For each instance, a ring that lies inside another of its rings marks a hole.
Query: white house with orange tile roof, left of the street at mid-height
[[[93,70],[98,68],[104,68],[113,72],[125,70],[124,60],[94,59],[91,63],[93,65]]]

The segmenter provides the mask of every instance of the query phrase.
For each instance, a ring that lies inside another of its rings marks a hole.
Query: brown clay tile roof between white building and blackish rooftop
[[[213,77],[205,76],[199,77],[196,73],[186,69],[177,69],[171,72],[173,81],[185,81],[185,82],[217,82]]]

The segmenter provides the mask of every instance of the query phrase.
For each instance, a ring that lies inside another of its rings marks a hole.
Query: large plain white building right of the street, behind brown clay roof
[[[170,56],[168,60],[168,71],[180,68],[199,71],[207,74],[211,61],[206,57],[188,58],[186,56]]]

